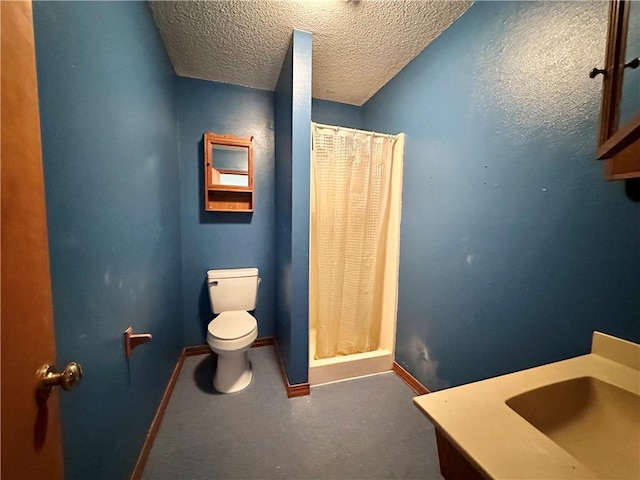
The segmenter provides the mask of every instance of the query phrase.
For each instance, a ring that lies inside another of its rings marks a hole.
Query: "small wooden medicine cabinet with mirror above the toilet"
[[[253,212],[253,137],[205,132],[204,209]]]

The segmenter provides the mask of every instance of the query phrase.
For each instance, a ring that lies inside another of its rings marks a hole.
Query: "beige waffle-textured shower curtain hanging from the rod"
[[[391,177],[402,172],[392,167],[402,149],[398,136],[312,128],[309,315],[321,359],[378,348]]]

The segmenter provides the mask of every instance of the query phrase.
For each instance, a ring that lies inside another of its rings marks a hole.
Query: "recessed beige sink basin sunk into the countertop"
[[[585,376],[506,404],[603,478],[640,478],[640,396]]]

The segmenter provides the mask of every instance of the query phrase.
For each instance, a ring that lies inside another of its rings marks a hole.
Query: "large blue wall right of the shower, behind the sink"
[[[595,160],[606,2],[476,2],[363,109],[407,134],[397,360],[430,389],[640,340],[640,206]]]

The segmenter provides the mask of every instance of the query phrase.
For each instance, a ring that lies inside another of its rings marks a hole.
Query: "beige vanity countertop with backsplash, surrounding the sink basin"
[[[591,354],[422,395],[414,402],[489,478],[598,478],[505,402],[578,377],[594,377],[640,395],[638,364],[640,345],[596,332]]]

